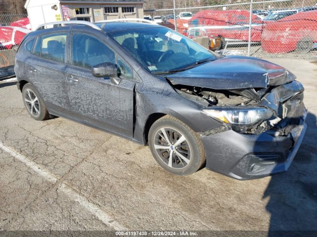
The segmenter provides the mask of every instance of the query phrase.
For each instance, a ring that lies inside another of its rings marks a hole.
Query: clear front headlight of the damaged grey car
[[[271,118],[273,115],[270,110],[263,107],[212,107],[204,109],[203,112],[233,127],[240,127],[240,129],[234,129],[239,131]]]

